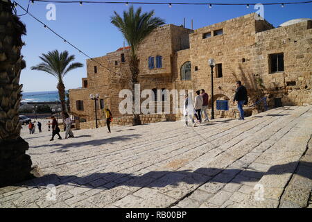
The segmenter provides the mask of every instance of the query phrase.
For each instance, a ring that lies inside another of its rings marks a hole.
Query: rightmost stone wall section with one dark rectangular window
[[[275,98],[281,98],[283,105],[311,104],[311,21],[257,33],[256,43],[254,74],[261,79],[269,104],[274,105]],[[273,53],[284,53],[284,71],[270,73]]]

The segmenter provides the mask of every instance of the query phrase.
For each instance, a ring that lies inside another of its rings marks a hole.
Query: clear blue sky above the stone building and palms
[[[28,0],[15,0],[24,6],[28,5]],[[143,0],[142,0],[143,1]],[[153,0],[157,2],[168,2],[164,0]],[[129,1],[130,2],[130,1]],[[146,1],[148,2],[148,1]],[[188,2],[185,0],[170,0],[170,2]],[[208,1],[195,0],[193,2],[207,3]],[[270,3],[283,1],[234,1],[234,0],[214,0],[212,3]],[[288,0],[287,2],[295,2]],[[124,4],[89,4],[80,6],[76,4],[55,3],[56,20],[48,21],[46,19],[46,5],[48,3],[31,3],[29,12],[42,22],[47,24],[56,33],[62,35],[72,44],[78,46],[89,56],[104,56],[106,53],[115,51],[123,46],[123,36],[116,27],[110,23],[110,16],[114,10],[120,15],[128,6]],[[141,6],[143,11],[155,10],[155,16],[165,19],[166,24],[183,24],[183,18],[186,18],[187,28],[191,28],[191,19],[193,19],[193,28],[201,28],[210,24],[223,22],[227,19],[239,17],[252,12],[256,12],[253,6],[175,6],[169,8],[167,5],[135,5],[135,8]],[[290,19],[311,18],[312,3],[281,6],[264,6],[264,18],[275,27]],[[18,15],[23,11],[17,7]],[[64,43],[59,37],[44,28],[42,24],[35,21],[29,15],[21,17],[21,21],[26,24],[27,35],[23,37],[26,45],[22,49],[22,55],[26,60],[26,69],[21,72],[20,83],[24,85],[24,92],[40,92],[56,90],[57,80],[55,77],[42,71],[31,71],[31,67],[40,63],[42,53],[47,53],[54,49],[59,51],[67,50],[70,54],[76,56],[76,61],[83,63],[84,67],[73,70],[64,78],[66,89],[81,87],[81,78],[86,77],[85,60],[83,54],[73,49],[69,44]]]

